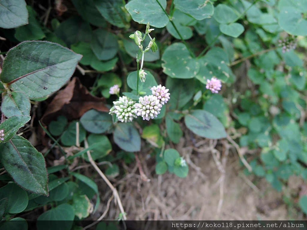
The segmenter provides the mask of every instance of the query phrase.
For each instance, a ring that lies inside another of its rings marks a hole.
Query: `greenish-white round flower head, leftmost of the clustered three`
[[[119,100],[113,102],[114,106],[110,109],[109,114],[116,114],[116,117],[121,122],[132,121],[133,118],[136,118],[137,109],[135,107],[135,102],[126,97],[119,97]]]

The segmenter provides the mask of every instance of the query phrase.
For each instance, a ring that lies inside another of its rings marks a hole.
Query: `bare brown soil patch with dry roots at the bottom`
[[[204,151],[197,153],[191,147],[183,148],[183,144],[185,143],[179,144],[177,149],[189,164],[186,178],[179,178],[168,172],[163,175],[155,174],[154,161],[152,166],[148,166],[150,162],[146,160],[146,154],[142,153],[140,160],[150,182],[141,179],[137,165],[134,168],[123,165],[128,173],[114,182],[118,185],[128,220],[303,219],[300,212],[289,210],[289,206],[283,202],[282,193],[274,190],[265,179],[246,177],[243,174],[243,167],[240,166],[240,159],[234,148],[230,147],[227,157],[219,159],[219,152],[212,154],[212,148],[208,145],[199,147],[199,151]],[[224,173],[221,173],[219,167]],[[221,175],[224,175],[223,180],[219,180]],[[297,178],[293,178],[293,182],[295,180]],[[104,187],[103,181],[100,184]],[[293,184],[300,185],[301,181]],[[108,188],[104,189],[109,191]],[[109,191],[105,194],[105,201],[110,197]],[[102,204],[100,212],[105,209],[106,205]],[[98,218],[99,212],[96,215]],[[115,219],[118,215],[118,206],[112,201],[105,219]]]

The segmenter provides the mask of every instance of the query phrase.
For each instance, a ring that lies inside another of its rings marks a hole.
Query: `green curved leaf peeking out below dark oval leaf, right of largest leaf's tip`
[[[74,52],[83,55],[82,59],[80,60],[81,64],[90,65],[97,71],[112,70],[118,61],[117,57],[107,61],[99,60],[94,54],[91,44],[87,42],[80,41],[79,43],[73,44],[71,48]]]

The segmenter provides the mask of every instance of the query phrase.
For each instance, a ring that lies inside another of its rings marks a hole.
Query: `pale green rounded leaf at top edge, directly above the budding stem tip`
[[[159,0],[163,9],[166,8],[166,0]],[[150,23],[151,26],[162,28],[169,22],[156,0],[132,0],[125,6],[132,19],[140,24]]]

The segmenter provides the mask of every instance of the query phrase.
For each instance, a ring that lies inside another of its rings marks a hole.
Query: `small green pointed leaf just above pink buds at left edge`
[[[3,121],[0,124],[0,130],[4,130],[4,140],[0,140],[0,143],[10,140],[16,134],[18,129],[24,126],[30,118],[30,116],[12,116]]]

